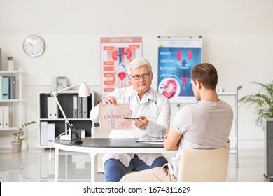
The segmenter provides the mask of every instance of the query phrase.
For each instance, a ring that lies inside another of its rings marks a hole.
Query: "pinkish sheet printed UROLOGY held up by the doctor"
[[[101,130],[132,129],[130,104],[99,104],[99,125]]]

